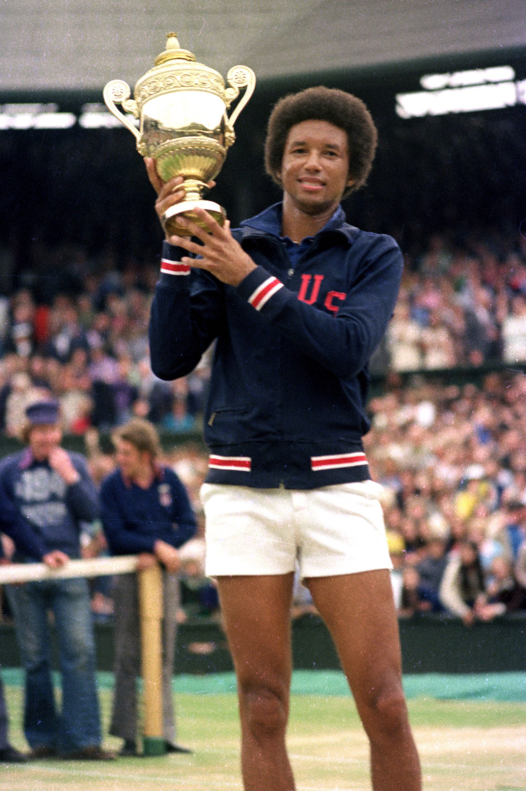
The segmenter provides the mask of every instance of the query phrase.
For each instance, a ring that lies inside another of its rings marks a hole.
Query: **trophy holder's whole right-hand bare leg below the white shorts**
[[[311,577],[306,583],[331,631],[369,736],[374,791],[420,791],[389,572]]]

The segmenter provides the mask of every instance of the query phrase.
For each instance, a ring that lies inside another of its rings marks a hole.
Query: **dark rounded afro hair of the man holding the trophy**
[[[289,131],[302,121],[327,121],[347,135],[349,150],[349,177],[354,184],[344,193],[358,190],[373,165],[377,149],[377,127],[365,104],[353,96],[334,88],[308,88],[300,93],[290,93],[278,100],[268,119],[265,141],[265,169],[271,179],[282,187],[278,172],[282,168],[283,152]]]

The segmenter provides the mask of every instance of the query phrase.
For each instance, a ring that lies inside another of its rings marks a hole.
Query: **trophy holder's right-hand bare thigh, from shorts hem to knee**
[[[398,621],[388,570],[305,580],[335,642],[363,715],[379,695],[399,694]]]

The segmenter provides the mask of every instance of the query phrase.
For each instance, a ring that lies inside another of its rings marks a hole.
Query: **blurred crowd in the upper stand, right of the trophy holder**
[[[526,361],[526,239],[435,236],[407,255],[387,345],[399,372]]]

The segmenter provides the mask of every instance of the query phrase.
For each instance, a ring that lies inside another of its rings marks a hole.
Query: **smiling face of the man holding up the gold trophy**
[[[306,214],[337,206],[349,178],[347,135],[327,121],[302,121],[291,127],[278,172],[285,201]]]

